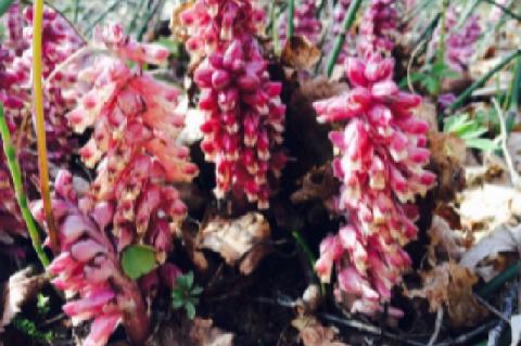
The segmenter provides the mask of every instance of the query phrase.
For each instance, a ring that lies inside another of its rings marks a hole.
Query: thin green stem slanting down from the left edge
[[[3,105],[0,104],[0,133],[3,141],[3,152],[8,158],[8,167],[11,172],[11,178],[13,179],[14,192],[16,194],[16,201],[18,202],[20,209],[22,212],[22,217],[24,218],[25,225],[29,232],[30,241],[33,242],[33,247],[38,255],[43,267],[49,266],[49,258],[47,257],[43,247],[41,246],[40,234],[36,228],[35,220],[30,214],[29,207],[27,205],[27,196],[24,192],[24,185],[22,182],[22,171],[20,169],[18,162],[16,161],[16,153],[14,146],[11,142],[11,133],[9,132],[8,123],[5,121],[5,116],[3,113]]]

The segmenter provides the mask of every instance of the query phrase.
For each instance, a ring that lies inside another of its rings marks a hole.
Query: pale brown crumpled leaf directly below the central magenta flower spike
[[[271,231],[262,214],[247,213],[238,219],[214,219],[200,232],[199,248],[219,253],[228,265],[240,262],[243,274],[250,274],[270,251]]]

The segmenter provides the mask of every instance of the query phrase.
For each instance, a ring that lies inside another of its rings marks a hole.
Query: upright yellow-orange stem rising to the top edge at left
[[[52,215],[51,192],[49,188],[49,163],[46,142],[46,119],[43,114],[42,88],[42,31],[43,0],[35,0],[33,22],[33,105],[35,110],[35,129],[38,148],[38,170],[40,175],[41,200],[46,213],[51,248],[58,252],[58,231]]]

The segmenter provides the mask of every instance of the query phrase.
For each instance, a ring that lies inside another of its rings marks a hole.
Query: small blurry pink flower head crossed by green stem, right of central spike
[[[344,0],[345,1],[345,0]],[[294,35],[304,36],[313,43],[317,44],[322,29],[321,22],[316,17],[317,7],[315,0],[303,0],[295,7],[293,16]],[[282,47],[288,39],[288,14],[284,13],[279,18],[279,40]]]

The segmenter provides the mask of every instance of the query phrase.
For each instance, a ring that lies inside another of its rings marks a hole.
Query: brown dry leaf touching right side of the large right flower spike
[[[450,201],[465,185],[463,163],[467,148],[460,138],[442,132],[430,132],[430,169],[437,175],[435,192],[439,198]]]

